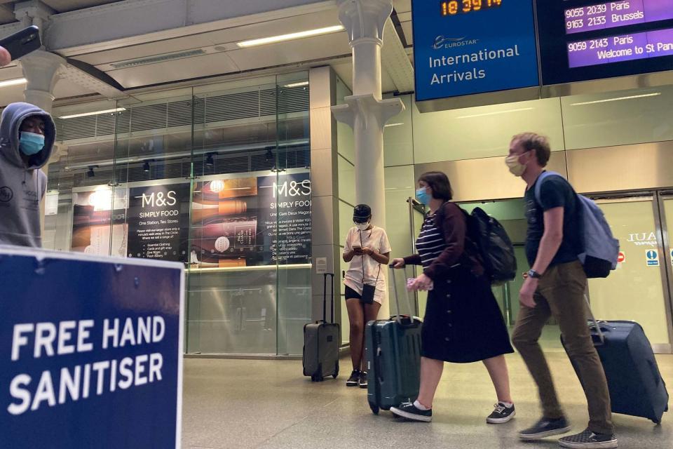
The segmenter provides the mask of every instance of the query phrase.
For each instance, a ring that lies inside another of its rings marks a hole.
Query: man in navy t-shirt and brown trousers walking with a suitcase
[[[554,316],[564,344],[589,403],[589,426],[580,434],[559,440],[565,448],[616,448],[605,373],[594,348],[585,318],[587,277],[578,254],[580,201],[573,187],[559,176],[546,177],[535,197],[538,177],[551,156],[549,142],[541,135],[516,135],[505,160],[510,172],[526,181],[526,257],[532,269],[519,292],[522,308],[512,343],[528,366],[543,407],[543,417],[519,432],[523,440],[537,440],[570,431],[559,403],[552,375],[538,343],[543,326]]]

